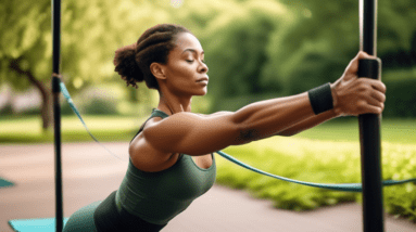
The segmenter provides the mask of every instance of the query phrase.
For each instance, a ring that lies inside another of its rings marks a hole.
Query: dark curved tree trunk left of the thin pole
[[[11,60],[10,68],[15,70],[17,74],[21,74],[29,79],[29,81],[39,90],[42,105],[40,111],[40,116],[42,118],[42,129],[47,131],[53,125],[53,107],[52,107],[52,93],[49,88],[46,87],[41,81],[35,78],[30,70],[24,70],[20,64],[18,60]]]

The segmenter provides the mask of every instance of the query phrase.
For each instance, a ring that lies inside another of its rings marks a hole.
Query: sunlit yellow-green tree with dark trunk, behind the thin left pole
[[[51,107],[51,9],[50,1],[2,1],[0,23],[1,82],[15,90],[35,86],[42,99],[42,128],[52,124]],[[135,42],[144,30],[167,17],[153,18],[147,1],[63,1],[62,74],[70,91],[109,80],[114,51]]]

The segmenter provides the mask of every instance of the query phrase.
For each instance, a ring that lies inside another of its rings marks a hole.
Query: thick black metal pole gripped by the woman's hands
[[[360,0],[360,49],[377,56],[377,0]],[[379,60],[361,60],[358,76],[380,78]],[[358,115],[364,232],[383,232],[381,115]]]

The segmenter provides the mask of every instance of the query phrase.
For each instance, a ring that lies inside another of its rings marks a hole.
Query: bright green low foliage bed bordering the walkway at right
[[[316,131],[315,131],[316,132]],[[278,176],[322,183],[361,182],[360,145],[354,142],[312,141],[300,138],[272,138],[226,150],[230,155],[259,169]],[[416,146],[382,143],[383,179],[414,178]],[[244,189],[268,198],[275,207],[307,210],[341,202],[360,201],[360,194],[322,190],[261,176],[217,159],[217,183]],[[416,221],[415,183],[385,188],[389,214]]]

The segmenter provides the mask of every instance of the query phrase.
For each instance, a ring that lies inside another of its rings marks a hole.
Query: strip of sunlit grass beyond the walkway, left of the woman
[[[114,116],[83,116],[91,133],[99,141],[129,141],[144,118]],[[63,142],[93,141],[76,116],[61,119]],[[53,142],[53,129],[43,132],[39,117],[0,118],[0,143]]]

